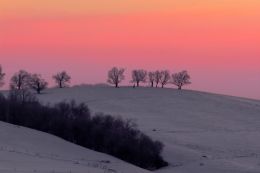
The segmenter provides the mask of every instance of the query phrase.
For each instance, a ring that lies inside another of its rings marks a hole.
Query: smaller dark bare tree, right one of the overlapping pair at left
[[[40,94],[42,90],[47,88],[48,82],[46,82],[40,74],[33,74],[30,77],[29,86]]]

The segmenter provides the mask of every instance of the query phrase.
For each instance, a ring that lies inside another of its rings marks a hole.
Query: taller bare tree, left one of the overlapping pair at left
[[[10,81],[11,89],[24,90],[28,89],[30,80],[30,73],[25,70],[20,70],[15,73]]]

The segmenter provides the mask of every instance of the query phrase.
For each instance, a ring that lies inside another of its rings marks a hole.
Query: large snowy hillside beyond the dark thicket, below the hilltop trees
[[[42,102],[75,99],[92,111],[135,119],[165,144],[158,173],[259,173],[260,101],[155,88],[50,89]]]

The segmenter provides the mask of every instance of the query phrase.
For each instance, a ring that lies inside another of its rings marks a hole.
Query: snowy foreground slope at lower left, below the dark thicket
[[[148,173],[52,135],[0,122],[0,173],[133,172]]]

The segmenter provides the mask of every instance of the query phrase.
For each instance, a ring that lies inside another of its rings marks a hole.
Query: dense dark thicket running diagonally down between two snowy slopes
[[[22,91],[11,90],[8,98],[0,94],[0,121],[47,132],[145,169],[167,166],[161,157],[163,144],[139,131],[132,121],[103,113],[93,116],[87,105],[74,101],[42,105]]]

